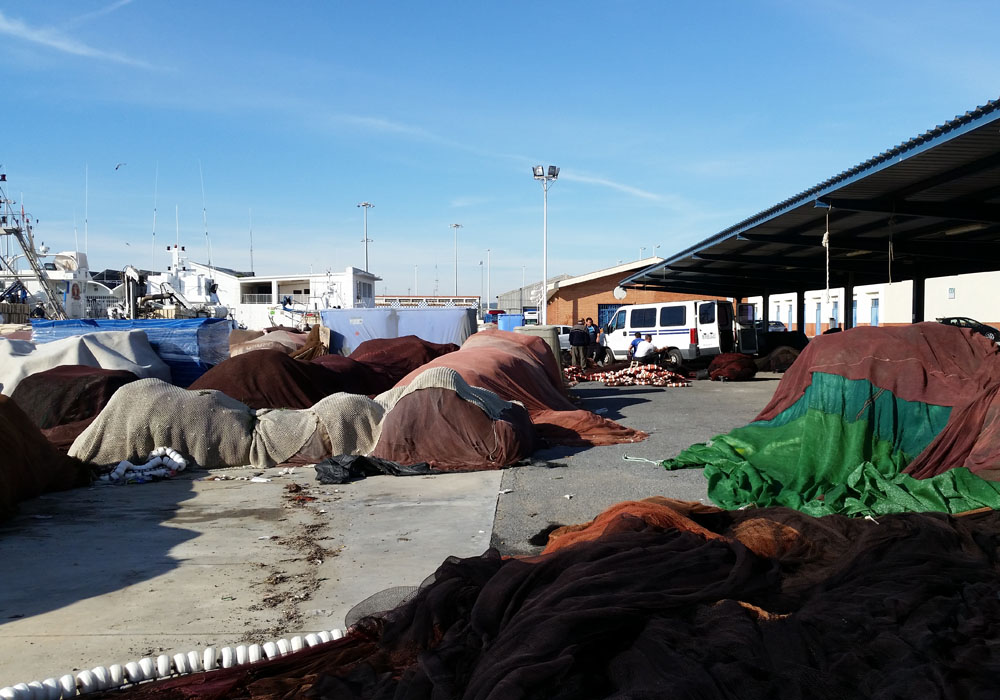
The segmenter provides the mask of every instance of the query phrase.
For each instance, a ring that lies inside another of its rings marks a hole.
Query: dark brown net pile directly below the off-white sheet
[[[114,393],[137,379],[124,369],[60,365],[25,377],[11,398],[56,449],[66,452]]]

